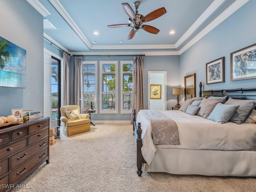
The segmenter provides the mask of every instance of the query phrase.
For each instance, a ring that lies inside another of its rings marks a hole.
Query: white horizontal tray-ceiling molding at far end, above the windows
[[[175,45],[94,45],[91,50],[176,49]]]

